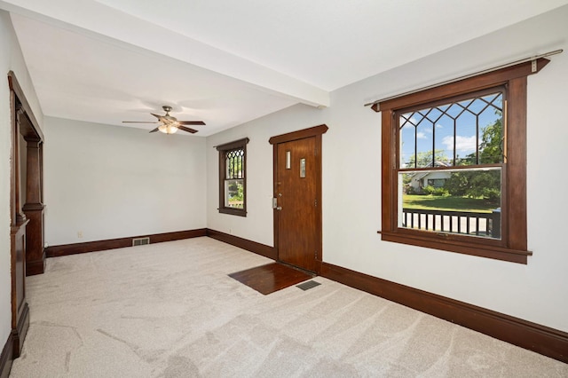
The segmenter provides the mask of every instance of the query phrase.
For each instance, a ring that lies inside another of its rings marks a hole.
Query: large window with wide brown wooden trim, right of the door
[[[526,264],[526,76],[539,59],[375,104],[382,238]]]

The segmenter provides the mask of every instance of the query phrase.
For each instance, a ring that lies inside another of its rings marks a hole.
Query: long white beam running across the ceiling
[[[309,106],[329,92],[92,0],[0,0],[0,8],[128,49],[158,53]]]

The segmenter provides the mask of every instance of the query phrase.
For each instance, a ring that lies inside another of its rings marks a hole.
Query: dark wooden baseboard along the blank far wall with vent
[[[132,247],[132,239],[138,238],[150,238],[150,243],[154,244],[161,243],[163,241],[197,238],[200,236],[207,236],[207,229],[201,228],[197,230],[155,233],[151,235],[131,236],[128,238],[87,241],[84,243],[50,246],[48,248],[45,248],[45,255],[47,257],[59,257],[76,255],[80,253],[96,252],[106,249]]]

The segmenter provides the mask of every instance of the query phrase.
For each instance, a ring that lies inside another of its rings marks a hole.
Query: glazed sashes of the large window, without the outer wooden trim
[[[395,111],[398,227],[501,238],[504,87]]]

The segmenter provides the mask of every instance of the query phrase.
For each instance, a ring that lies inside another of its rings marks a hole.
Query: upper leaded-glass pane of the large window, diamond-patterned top
[[[503,162],[503,94],[398,114],[401,169]]]

